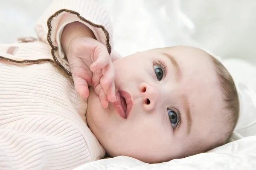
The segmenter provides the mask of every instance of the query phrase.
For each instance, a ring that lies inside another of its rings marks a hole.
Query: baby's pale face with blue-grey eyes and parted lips
[[[119,102],[103,108],[90,88],[87,109],[88,125],[110,156],[162,162],[202,152],[221,138],[222,94],[207,55],[173,47],[113,62]]]

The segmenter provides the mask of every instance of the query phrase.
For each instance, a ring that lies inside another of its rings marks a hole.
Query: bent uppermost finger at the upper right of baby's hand
[[[100,49],[97,49],[97,48],[100,48]],[[96,71],[98,69],[101,69],[111,61],[111,57],[108,54],[108,50],[105,46],[100,45],[97,48],[94,52],[95,62],[93,62],[90,65],[91,71]]]

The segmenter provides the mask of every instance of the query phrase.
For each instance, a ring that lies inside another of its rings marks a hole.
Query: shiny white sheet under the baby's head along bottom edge
[[[218,147],[184,159],[160,164],[145,164],[136,159],[119,156],[90,162],[75,170],[255,170],[256,136]]]

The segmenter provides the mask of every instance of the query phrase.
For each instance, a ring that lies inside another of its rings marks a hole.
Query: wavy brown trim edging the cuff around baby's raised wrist
[[[96,28],[102,28],[102,31],[103,31],[103,32],[105,33],[105,35],[106,35],[106,39],[107,39],[107,40],[106,40],[106,46],[107,46],[107,48],[108,48],[108,53],[109,53],[109,54],[111,54],[111,45],[110,45],[110,43],[109,43],[110,37],[109,37],[108,31],[105,29],[104,26],[98,25],[98,24],[95,24],[95,23],[92,23],[92,22],[90,22],[89,20],[86,20],[84,17],[81,17],[81,15],[80,15],[78,12],[75,12],[75,11],[72,11],[72,10],[69,10],[69,9],[61,9],[61,10],[55,12],[55,14],[53,14],[51,17],[49,17],[49,19],[47,20],[47,26],[48,26],[47,41],[48,41],[49,45],[52,47],[52,57],[53,57],[55,63],[56,63],[58,66],[60,66],[60,68],[61,68],[62,70],[64,70],[66,74],[68,74],[69,76],[71,76],[71,72],[68,71],[66,68],[64,68],[63,65],[61,65],[60,62],[58,62],[57,57],[56,57],[55,54],[54,54],[54,52],[58,50],[58,47],[57,47],[57,46],[54,46],[54,45],[52,44],[52,40],[51,40],[51,34],[52,34],[52,32],[51,32],[51,31],[52,31],[51,22],[52,22],[52,19],[53,19],[54,17],[57,17],[58,14],[61,14],[62,12],[67,12],[67,13],[70,13],[70,14],[75,14],[75,15],[77,15],[77,17],[78,17],[80,20],[84,21],[85,23],[88,23],[88,24],[90,24],[91,26],[94,26],[94,27],[96,27]]]

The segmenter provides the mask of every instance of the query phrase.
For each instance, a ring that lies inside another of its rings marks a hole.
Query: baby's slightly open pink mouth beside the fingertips
[[[131,95],[126,91],[117,91],[116,92],[116,102],[114,102],[114,106],[116,108],[117,113],[124,119],[127,119],[128,114],[132,108]]]

